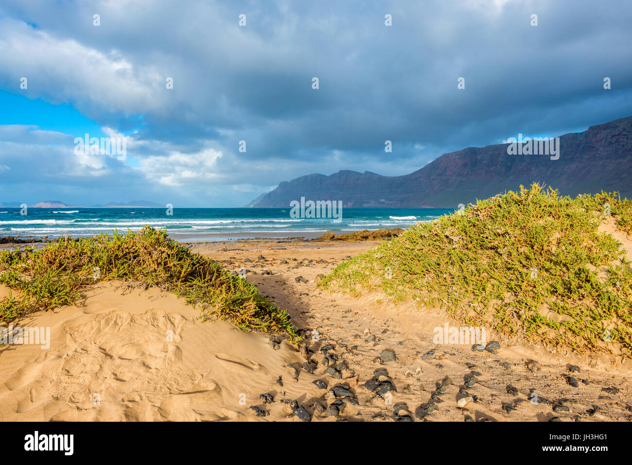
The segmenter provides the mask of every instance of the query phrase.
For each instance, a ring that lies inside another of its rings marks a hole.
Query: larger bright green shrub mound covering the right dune
[[[606,217],[630,234],[617,193],[560,196],[533,184],[418,223],[339,264],[323,289],[413,298],[466,325],[578,354],[632,356],[632,268]]]

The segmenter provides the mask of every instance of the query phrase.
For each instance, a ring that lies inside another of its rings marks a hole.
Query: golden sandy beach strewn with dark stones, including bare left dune
[[[632,241],[619,239],[632,257]],[[189,245],[245,269],[288,310],[308,353],[202,322],[184,299],[122,282],[95,284],[81,306],[32,313],[20,325],[49,327],[50,347],[0,349],[0,420],[632,420],[629,359],[551,353],[489,329],[489,350],[437,344],[436,329],[456,324],[441,311],[317,287],[320,275],[377,243]],[[8,295],[0,286],[0,299]]]

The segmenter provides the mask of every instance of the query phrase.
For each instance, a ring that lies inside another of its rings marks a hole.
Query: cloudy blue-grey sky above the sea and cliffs
[[[239,207],[583,131],[632,116],[630,23],[611,0],[1,0],[0,202]]]

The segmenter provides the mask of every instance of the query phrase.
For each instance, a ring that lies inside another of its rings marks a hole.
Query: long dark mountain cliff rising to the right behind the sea
[[[454,208],[520,184],[546,183],[562,195],[619,191],[632,198],[632,116],[559,136],[559,159],[509,155],[507,144],[444,154],[404,176],[339,171],[284,181],[254,207],[288,207],[291,200],[342,200],[344,207]],[[258,201],[257,201],[258,200]]]

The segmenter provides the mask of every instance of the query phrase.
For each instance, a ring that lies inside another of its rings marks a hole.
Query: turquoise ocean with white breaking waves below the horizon
[[[145,225],[164,228],[179,241],[221,241],[245,238],[316,238],[327,231],[408,227],[454,210],[447,208],[344,208],[334,219],[292,218],[290,208],[20,208],[0,207],[0,236],[32,238],[94,236],[118,230],[138,231]]]

